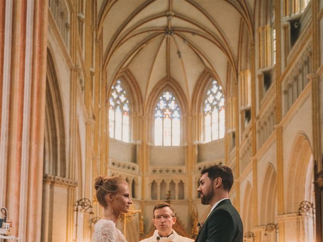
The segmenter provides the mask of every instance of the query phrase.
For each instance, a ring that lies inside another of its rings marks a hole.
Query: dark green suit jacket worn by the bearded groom
[[[195,242],[242,242],[243,225],[229,199],[221,201],[208,215]]]

